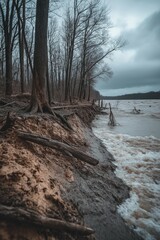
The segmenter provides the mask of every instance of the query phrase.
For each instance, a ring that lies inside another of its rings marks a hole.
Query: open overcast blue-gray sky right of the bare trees
[[[160,91],[160,0],[108,0],[112,37],[127,44],[109,62],[113,77],[99,80],[96,89],[114,96]]]

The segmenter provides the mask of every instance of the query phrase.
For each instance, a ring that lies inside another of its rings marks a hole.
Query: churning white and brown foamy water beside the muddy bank
[[[131,188],[118,212],[144,239],[160,239],[160,140],[106,131],[103,117],[96,124],[95,135],[116,160],[116,175]]]

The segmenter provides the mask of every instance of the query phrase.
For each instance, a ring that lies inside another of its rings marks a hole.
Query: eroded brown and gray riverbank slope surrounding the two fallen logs
[[[113,157],[88,126],[95,114],[91,108],[75,109],[73,114],[69,111],[66,116],[73,131],[49,115],[16,114],[14,126],[0,134],[0,204],[85,224],[95,235],[82,237],[1,219],[0,239],[141,239],[116,212],[129,189],[115,176]],[[0,115],[2,125],[4,112]],[[76,146],[97,158],[99,164],[93,167],[60,151],[22,141],[17,130]]]

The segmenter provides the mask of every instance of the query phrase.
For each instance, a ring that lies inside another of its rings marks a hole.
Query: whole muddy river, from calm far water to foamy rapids
[[[160,100],[109,102],[116,126],[109,126],[108,116],[100,115],[92,128],[114,156],[116,175],[131,189],[130,198],[118,206],[118,212],[145,240],[159,240]],[[140,114],[132,112],[134,107]]]

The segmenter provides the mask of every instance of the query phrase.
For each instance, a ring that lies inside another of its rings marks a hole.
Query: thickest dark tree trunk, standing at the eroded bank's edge
[[[37,0],[31,112],[52,113],[46,94],[48,9],[49,0]]]

